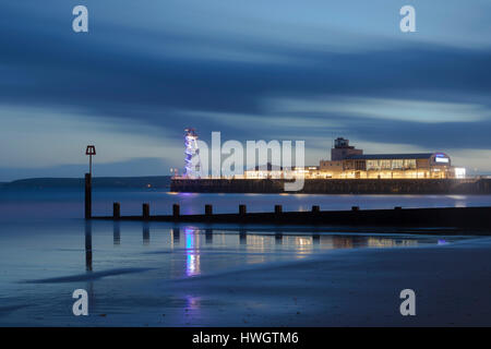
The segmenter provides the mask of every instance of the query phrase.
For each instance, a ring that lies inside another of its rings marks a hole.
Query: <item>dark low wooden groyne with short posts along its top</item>
[[[445,208],[402,208],[321,210],[312,206],[309,212],[284,212],[275,205],[271,213],[247,213],[246,205],[239,205],[236,214],[214,214],[213,206],[206,205],[204,214],[181,215],[175,204],[172,215],[151,215],[149,205],[142,205],[142,214],[121,216],[120,205],[115,203],[112,216],[92,217],[93,219],[206,222],[206,224],[271,224],[271,225],[313,225],[313,226],[367,226],[367,227],[441,227],[475,228],[491,231],[491,207],[445,207]]]

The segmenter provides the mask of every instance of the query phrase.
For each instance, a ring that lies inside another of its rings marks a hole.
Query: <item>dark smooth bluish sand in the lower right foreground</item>
[[[399,312],[406,288],[416,292],[415,316]],[[167,309],[167,326],[490,326],[491,239],[331,251],[163,290],[190,300],[184,314]]]

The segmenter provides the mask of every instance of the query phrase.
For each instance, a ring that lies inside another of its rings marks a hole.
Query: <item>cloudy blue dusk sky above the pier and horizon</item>
[[[0,0],[0,181],[82,177],[87,144],[95,176],[169,174],[189,127],[491,173],[491,1]]]

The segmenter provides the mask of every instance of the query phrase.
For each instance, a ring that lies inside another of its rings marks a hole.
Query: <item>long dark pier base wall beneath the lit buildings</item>
[[[172,179],[170,191],[284,193],[282,179]],[[491,194],[491,179],[306,179],[306,194]]]

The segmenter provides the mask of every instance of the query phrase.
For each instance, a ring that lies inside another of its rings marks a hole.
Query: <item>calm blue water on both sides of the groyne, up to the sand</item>
[[[314,204],[322,209],[491,205],[491,196],[95,190],[94,214],[110,215],[113,201],[121,203],[122,214],[141,213],[143,202],[151,203],[153,214],[169,214],[173,203],[180,203],[184,214],[202,213],[208,203],[217,213],[236,212],[239,204],[247,204],[250,212],[272,210],[275,204],[283,204],[285,210],[310,209]],[[349,233],[313,227],[85,222],[82,215],[83,193],[76,190],[0,191],[0,325],[144,325],[156,313],[167,314],[163,325],[183,325],[190,309],[216,304],[199,302],[196,294],[185,291],[166,291],[166,282],[335,250],[416,248],[464,238],[394,231]],[[79,288],[89,293],[88,317],[72,314],[71,296]],[[116,322],[107,322],[117,315]]]

